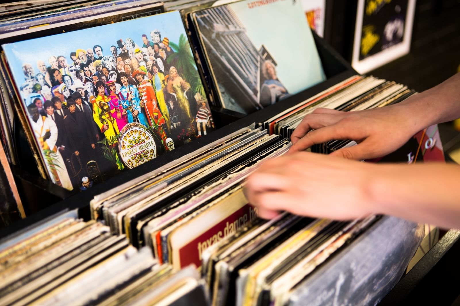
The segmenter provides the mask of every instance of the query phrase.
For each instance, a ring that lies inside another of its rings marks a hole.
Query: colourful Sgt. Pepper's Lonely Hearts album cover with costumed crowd
[[[214,129],[178,11],[2,47],[42,162],[66,189]]]

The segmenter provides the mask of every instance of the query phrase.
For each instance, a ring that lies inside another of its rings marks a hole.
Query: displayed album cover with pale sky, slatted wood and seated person
[[[252,113],[325,79],[300,1],[246,0],[192,14],[223,108]]]

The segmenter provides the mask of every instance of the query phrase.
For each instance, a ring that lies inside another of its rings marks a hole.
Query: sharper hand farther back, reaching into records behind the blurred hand
[[[413,117],[408,109],[399,105],[356,112],[317,108],[293,131],[289,153],[303,151],[313,144],[351,139],[358,145],[330,155],[357,160],[382,157],[423,129],[418,126],[420,120]]]

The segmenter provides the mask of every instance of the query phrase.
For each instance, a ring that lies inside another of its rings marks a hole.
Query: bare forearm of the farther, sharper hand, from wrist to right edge
[[[416,129],[460,118],[460,73],[393,107],[410,114]]]

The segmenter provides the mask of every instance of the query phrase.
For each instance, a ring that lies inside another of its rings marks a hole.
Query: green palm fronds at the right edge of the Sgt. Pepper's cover
[[[201,96],[206,96],[187,37],[180,34],[179,44],[169,41],[169,45],[175,52],[167,57],[167,63],[176,67],[178,74],[189,82],[194,94],[199,92]],[[166,74],[169,74],[169,71],[165,71]]]

